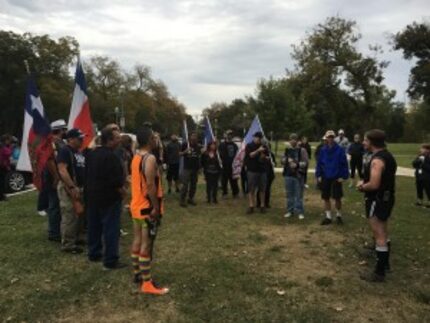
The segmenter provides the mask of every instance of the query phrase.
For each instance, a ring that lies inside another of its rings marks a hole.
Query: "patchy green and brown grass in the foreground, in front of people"
[[[306,219],[288,221],[277,176],[273,207],[246,216],[246,202],[203,201],[187,210],[176,196],[156,246],[155,278],[165,297],[138,295],[129,270],[103,272],[85,256],[46,240],[46,218],[29,193],[0,204],[0,318],[12,322],[428,322],[430,211],[412,206],[413,180],[399,178],[391,223],[393,273],[381,285],[360,281],[373,257],[362,196],[347,191],[345,225],[321,227],[321,202],[306,192]],[[130,230],[124,215],[123,226]],[[131,236],[121,241],[128,262]],[[367,262],[367,265],[363,265]]]

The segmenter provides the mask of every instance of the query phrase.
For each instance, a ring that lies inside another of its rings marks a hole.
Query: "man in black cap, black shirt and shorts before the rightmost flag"
[[[266,212],[264,195],[266,192],[266,160],[270,158],[267,146],[262,143],[263,133],[257,131],[254,134],[254,139],[245,148],[245,165],[248,177],[248,199],[249,207],[247,214],[254,213],[255,194],[258,191],[260,194],[260,212]]]

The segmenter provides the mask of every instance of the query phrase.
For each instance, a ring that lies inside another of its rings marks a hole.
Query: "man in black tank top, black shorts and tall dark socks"
[[[389,269],[387,222],[394,207],[397,163],[386,149],[385,133],[382,130],[368,131],[363,144],[372,156],[364,165],[364,180],[357,188],[364,192],[366,216],[375,239],[377,263],[373,273],[362,275],[361,278],[370,282],[383,282],[385,272]]]

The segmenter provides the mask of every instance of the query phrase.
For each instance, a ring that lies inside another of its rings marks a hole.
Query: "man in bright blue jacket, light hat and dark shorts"
[[[327,138],[327,144],[321,148],[316,167],[316,177],[325,208],[325,218],[321,225],[332,223],[330,198],[335,200],[336,222],[343,224],[341,214],[342,182],[349,177],[348,161],[345,150],[334,140],[334,131],[328,130],[325,137]]]

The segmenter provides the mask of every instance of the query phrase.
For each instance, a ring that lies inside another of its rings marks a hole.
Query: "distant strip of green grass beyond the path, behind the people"
[[[278,153],[276,154],[278,162],[281,160],[281,157],[284,154],[285,146],[286,146],[285,141],[278,142]],[[311,167],[314,167],[315,165],[314,153],[315,153],[315,148],[318,146],[318,143],[312,142],[311,146],[312,146]],[[388,144],[388,149],[396,157],[396,160],[399,166],[412,168],[412,161],[417,156],[420,146],[421,144],[415,144],[415,143],[413,144],[396,143],[396,144]],[[272,149],[275,151],[275,143],[272,143]]]

